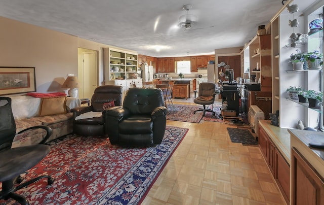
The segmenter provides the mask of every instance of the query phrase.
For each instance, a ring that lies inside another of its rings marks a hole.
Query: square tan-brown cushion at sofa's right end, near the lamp
[[[66,113],[66,96],[42,98],[39,116],[56,115]]]

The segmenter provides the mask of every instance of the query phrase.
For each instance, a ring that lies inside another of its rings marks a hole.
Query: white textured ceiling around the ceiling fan
[[[193,28],[176,25],[186,14]],[[0,16],[155,57],[240,47],[282,8],[281,0],[1,0]],[[154,45],[168,49],[156,51]]]

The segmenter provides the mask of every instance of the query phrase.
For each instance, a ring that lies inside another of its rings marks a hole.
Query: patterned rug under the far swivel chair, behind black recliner
[[[203,112],[196,112],[196,114],[193,113],[195,110],[201,108],[203,108],[203,106],[188,106],[188,105],[174,105],[174,107],[168,106],[167,119],[174,120],[174,121],[194,122],[194,123],[199,123],[201,119],[205,121],[222,122],[222,118],[219,117],[221,113],[220,105],[213,106],[213,110],[215,111],[216,116],[214,116],[210,112],[206,112],[205,117],[203,117]]]

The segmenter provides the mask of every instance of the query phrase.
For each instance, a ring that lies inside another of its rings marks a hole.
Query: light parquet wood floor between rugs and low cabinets
[[[177,104],[195,105],[191,100]],[[189,128],[142,204],[286,204],[257,146],[232,143],[231,124],[167,121]]]

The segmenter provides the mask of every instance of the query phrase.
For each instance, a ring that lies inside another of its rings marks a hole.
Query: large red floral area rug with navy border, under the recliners
[[[24,176],[47,173],[54,183],[42,179],[17,193],[30,204],[138,204],[187,131],[167,126],[163,143],[150,148],[121,148],[91,136],[54,140],[49,155]],[[0,200],[6,202],[18,204]]]

